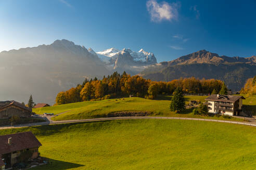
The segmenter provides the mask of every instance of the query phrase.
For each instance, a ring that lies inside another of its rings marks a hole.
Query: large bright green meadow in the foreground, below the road
[[[256,128],[194,120],[114,120],[32,131],[52,162],[41,169],[255,169]]]

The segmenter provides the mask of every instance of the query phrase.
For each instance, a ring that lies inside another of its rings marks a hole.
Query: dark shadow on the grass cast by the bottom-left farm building
[[[81,164],[65,162],[65,161],[59,161],[59,160],[54,160],[54,159],[48,159],[48,158],[44,158],[44,159],[48,161],[48,164],[37,166],[37,167],[31,168],[31,169],[65,170],[65,169],[77,168],[77,167],[85,166],[85,165],[81,165]]]

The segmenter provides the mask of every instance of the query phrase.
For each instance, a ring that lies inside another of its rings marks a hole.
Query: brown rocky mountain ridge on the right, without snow
[[[181,77],[214,78],[223,80],[229,89],[240,91],[246,80],[256,75],[256,56],[228,57],[200,50],[169,62],[150,65],[140,75],[156,81]]]

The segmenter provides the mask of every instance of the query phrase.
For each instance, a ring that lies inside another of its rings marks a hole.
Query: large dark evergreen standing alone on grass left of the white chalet
[[[170,109],[171,111],[176,111],[177,113],[180,113],[185,109],[185,98],[180,88],[177,88],[174,91],[174,95],[171,100]]]

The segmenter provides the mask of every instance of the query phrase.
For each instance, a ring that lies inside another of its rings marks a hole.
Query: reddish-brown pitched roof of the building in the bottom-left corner
[[[8,138],[10,137],[11,145],[8,144]],[[40,141],[37,140],[32,132],[22,132],[0,136],[0,143],[0,154],[42,146]]]

